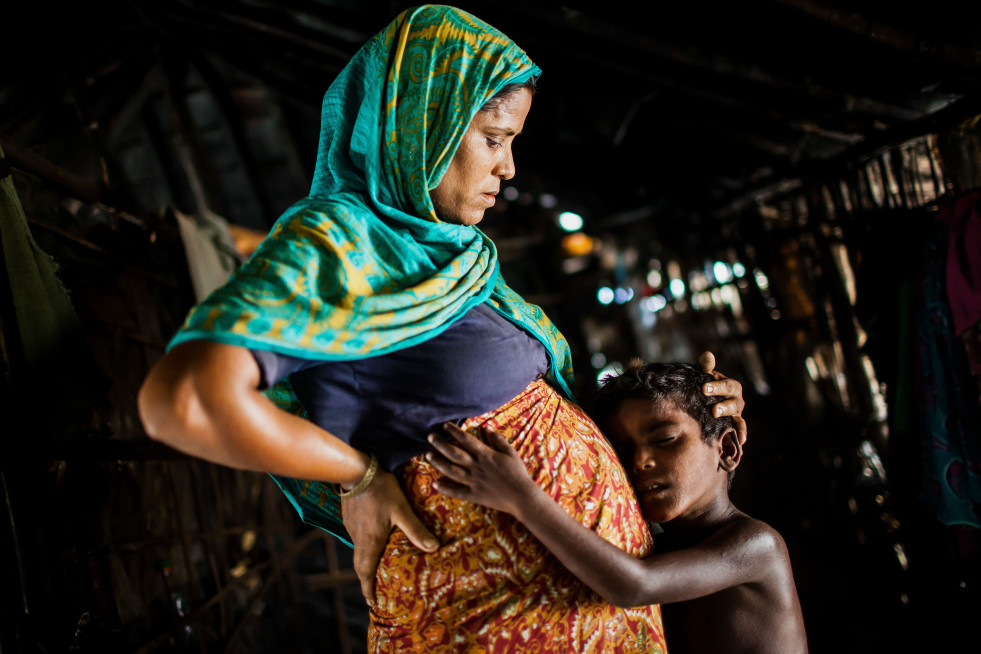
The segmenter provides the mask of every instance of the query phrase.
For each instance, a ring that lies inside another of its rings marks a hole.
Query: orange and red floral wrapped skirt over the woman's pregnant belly
[[[463,426],[507,437],[535,481],[583,525],[635,556],[650,550],[613,449],[544,381]],[[405,470],[406,494],[441,547],[426,554],[402,532],[392,535],[376,578],[370,652],[667,651],[660,607],[604,601],[510,515],[434,491],[438,475],[421,457]]]

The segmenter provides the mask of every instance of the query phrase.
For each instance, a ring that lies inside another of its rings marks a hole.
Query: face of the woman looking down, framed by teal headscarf
[[[518,89],[477,112],[439,186],[429,191],[437,216],[459,225],[483,219],[496,202],[501,180],[514,177],[511,146],[530,109],[531,91]]]

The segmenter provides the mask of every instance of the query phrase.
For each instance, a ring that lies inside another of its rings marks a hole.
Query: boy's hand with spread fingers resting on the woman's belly
[[[446,439],[429,435],[435,452],[426,455],[443,479],[433,484],[449,497],[516,515],[529,486],[535,486],[511,444],[494,431],[483,430],[486,444],[453,423],[443,425]]]

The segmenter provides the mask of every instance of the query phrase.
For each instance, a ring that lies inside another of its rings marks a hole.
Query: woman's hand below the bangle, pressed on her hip
[[[439,541],[416,516],[395,475],[379,471],[364,492],[341,500],[341,517],[354,544],[354,572],[368,606],[375,605],[375,573],[394,527],[424,552]]]

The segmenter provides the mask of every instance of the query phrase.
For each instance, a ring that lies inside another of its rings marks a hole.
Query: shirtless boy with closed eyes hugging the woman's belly
[[[451,497],[510,513],[585,584],[618,606],[664,604],[671,654],[807,652],[790,559],[772,527],[729,500],[742,445],[712,416],[712,377],[683,363],[638,363],[597,391],[593,417],[624,464],[641,510],[663,533],[637,559],[573,520],[507,441],[452,424],[429,461]]]

